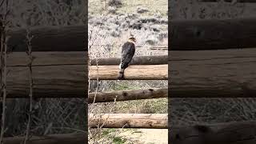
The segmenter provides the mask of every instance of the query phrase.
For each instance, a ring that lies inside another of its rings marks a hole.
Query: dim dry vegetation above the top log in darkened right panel
[[[172,0],[170,18],[219,19],[255,17],[253,2],[198,2],[198,0]],[[193,5],[193,6],[192,6]]]

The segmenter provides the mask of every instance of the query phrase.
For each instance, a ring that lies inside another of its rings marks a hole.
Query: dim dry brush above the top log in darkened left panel
[[[10,26],[69,26],[86,23],[83,0],[10,1]]]

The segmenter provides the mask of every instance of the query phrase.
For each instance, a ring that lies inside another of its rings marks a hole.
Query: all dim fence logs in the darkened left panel
[[[33,35],[32,70],[34,98],[84,98],[88,81],[85,26],[47,26],[30,29]],[[7,98],[29,98],[30,59],[26,54],[26,30],[7,32]],[[4,138],[6,144],[23,143],[25,137]],[[27,143],[84,144],[87,134],[32,136]]]

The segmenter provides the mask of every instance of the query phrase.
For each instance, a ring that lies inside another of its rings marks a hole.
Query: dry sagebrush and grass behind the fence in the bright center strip
[[[162,55],[166,50],[149,46],[167,46],[167,1],[90,0],[89,57],[120,57],[121,47],[130,35],[137,39],[135,55]],[[140,90],[167,87],[167,81],[90,81],[90,92]],[[167,113],[167,98],[129,102],[94,103],[89,112],[98,113]],[[90,143],[139,143],[124,129],[90,129]],[[129,131],[129,130],[128,130]],[[140,133],[140,130],[137,130]],[[95,134],[95,135],[94,135]],[[128,134],[128,133],[127,133]]]

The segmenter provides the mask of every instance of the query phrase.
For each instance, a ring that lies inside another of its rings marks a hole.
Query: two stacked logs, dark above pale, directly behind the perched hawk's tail
[[[98,62],[98,66],[96,65]],[[168,56],[134,57],[126,69],[127,80],[167,80]],[[118,78],[120,58],[91,59],[89,77],[91,80],[115,80]]]

